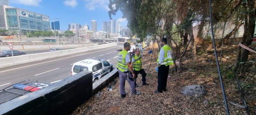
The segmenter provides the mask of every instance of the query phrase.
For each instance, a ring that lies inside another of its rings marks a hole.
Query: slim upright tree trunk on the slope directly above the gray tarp
[[[192,23],[188,27],[188,35],[189,35],[189,40],[191,39],[191,52],[192,52],[192,60],[196,60],[196,43],[193,35],[193,26]]]

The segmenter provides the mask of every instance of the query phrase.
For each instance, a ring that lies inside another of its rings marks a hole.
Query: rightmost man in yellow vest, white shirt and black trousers
[[[166,91],[167,78],[169,73],[169,65],[173,65],[172,48],[167,45],[167,39],[162,38],[160,52],[157,59],[157,90],[155,93],[163,93]]]

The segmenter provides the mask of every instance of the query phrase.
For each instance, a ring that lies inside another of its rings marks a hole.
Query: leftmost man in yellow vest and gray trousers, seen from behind
[[[120,87],[120,94],[121,94],[121,99],[123,99],[126,96],[125,93],[125,80],[128,81],[130,87],[131,87],[131,92],[132,95],[140,95],[140,92],[137,92],[135,89],[135,74],[133,73],[132,70],[132,64],[131,64],[131,56],[128,53],[128,51],[131,50],[131,44],[128,42],[124,43],[124,50],[122,50],[118,54],[118,61],[117,61],[117,69],[119,73],[119,87]]]

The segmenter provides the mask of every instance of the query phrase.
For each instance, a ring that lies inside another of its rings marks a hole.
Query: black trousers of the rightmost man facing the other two
[[[166,84],[167,84],[167,78],[168,78],[168,72],[169,72],[169,65],[161,65],[158,67],[158,74],[157,74],[157,91],[163,92],[163,90],[166,90]]]

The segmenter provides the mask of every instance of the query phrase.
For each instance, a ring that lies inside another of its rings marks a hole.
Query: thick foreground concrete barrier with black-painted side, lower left
[[[92,72],[84,71],[0,104],[0,114],[69,115],[91,96]]]

